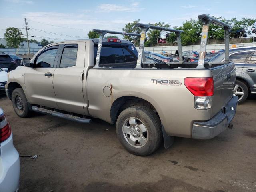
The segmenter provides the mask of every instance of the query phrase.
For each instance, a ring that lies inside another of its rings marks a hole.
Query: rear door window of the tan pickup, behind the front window
[[[77,44],[69,44],[64,46],[60,60],[60,67],[71,67],[76,65],[77,49]]]

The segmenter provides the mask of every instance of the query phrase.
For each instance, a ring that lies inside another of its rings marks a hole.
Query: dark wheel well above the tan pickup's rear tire
[[[118,115],[130,106],[147,106],[158,115],[156,109],[150,102],[138,97],[124,96],[116,99],[111,106],[110,116],[112,123],[116,122]]]

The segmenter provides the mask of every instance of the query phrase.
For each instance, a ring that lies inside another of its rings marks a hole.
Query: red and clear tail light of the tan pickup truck
[[[194,107],[196,109],[210,109],[214,94],[214,81],[212,77],[185,78],[186,88],[195,96]]]

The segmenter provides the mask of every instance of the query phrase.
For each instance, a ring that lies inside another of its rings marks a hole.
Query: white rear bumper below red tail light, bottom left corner
[[[14,148],[11,136],[1,143],[0,153],[0,192],[19,190],[20,157]]]

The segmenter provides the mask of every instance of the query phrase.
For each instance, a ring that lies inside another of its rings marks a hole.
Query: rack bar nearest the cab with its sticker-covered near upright
[[[109,31],[109,30],[102,30],[102,29],[93,29],[92,31],[98,32],[100,34],[99,42],[98,42],[98,50],[97,50],[97,56],[96,56],[96,62],[94,68],[99,68],[100,64],[100,53],[101,53],[101,47],[102,47],[102,40],[104,35],[107,33],[110,34],[118,34],[118,35],[129,35],[129,36],[140,36],[140,34],[137,33],[126,33],[126,32],[119,32],[119,31]]]

